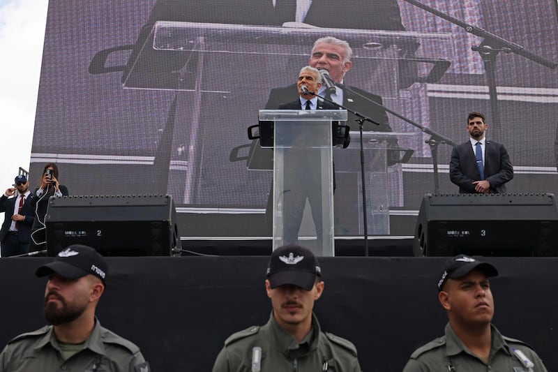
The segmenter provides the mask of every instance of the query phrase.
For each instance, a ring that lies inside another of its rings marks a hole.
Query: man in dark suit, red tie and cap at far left
[[[27,177],[23,174],[15,177],[14,186],[0,197],[0,212],[4,212],[4,222],[0,228],[2,257],[27,253],[31,225],[35,220],[33,194],[29,191]]]

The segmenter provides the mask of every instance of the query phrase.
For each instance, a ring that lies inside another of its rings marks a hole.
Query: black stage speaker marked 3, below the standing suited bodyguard
[[[418,211],[415,256],[556,256],[554,195],[426,194]]]

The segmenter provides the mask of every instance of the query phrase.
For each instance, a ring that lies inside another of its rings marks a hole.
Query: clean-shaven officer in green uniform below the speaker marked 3
[[[413,352],[404,372],[541,372],[541,358],[526,343],[502,336],[492,325],[494,299],[488,262],[467,255],[447,260],[438,281],[438,299],[448,313],[445,335]]]

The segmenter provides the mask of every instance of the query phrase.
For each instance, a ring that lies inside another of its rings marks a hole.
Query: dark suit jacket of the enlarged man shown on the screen
[[[368,91],[363,91],[362,89],[349,87],[353,89],[357,93],[369,98],[370,100],[382,104],[382,97],[377,96],[376,94],[372,94]],[[292,99],[292,97],[298,96],[299,92],[296,89],[296,84],[289,85],[287,87],[280,87],[271,89],[271,93],[269,94],[269,99],[266,103],[266,110],[273,110],[279,107],[282,103],[285,103]],[[331,103],[329,104],[331,105]],[[391,127],[389,126],[388,115],[386,111],[382,108],[378,107],[374,103],[370,103],[365,98],[358,96],[351,91],[345,90],[343,91],[343,106],[354,110],[356,112],[360,112],[361,114],[370,117],[370,119],[379,122],[379,126],[376,124],[372,124],[369,121],[366,121],[363,124],[364,131],[379,131],[379,132],[393,132]],[[352,126],[353,128],[358,128],[356,125],[356,115],[352,114],[351,112],[347,112],[347,124]]]

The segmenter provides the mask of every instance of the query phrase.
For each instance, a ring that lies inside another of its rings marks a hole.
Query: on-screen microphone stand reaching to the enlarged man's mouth
[[[412,126],[418,128],[421,132],[430,135],[430,139],[425,140],[425,143],[427,143],[428,146],[430,146],[430,153],[432,154],[432,169],[434,170],[434,193],[439,193],[438,146],[439,146],[439,144],[448,144],[451,147],[455,147],[455,146],[457,146],[457,144],[455,144],[455,142],[450,140],[448,137],[444,137],[443,135],[437,133],[436,131],[432,131],[432,129],[430,129],[430,128],[427,128],[425,126],[421,126],[421,124],[416,123],[416,121],[413,121],[413,120],[409,119],[408,117],[404,117],[402,114],[400,114],[398,112],[395,112],[395,111],[389,109],[388,107],[386,107],[386,106],[384,106],[380,103],[377,103],[376,101],[371,100],[367,96],[363,96],[358,91],[354,91],[354,89],[351,89],[351,87],[348,87],[347,85],[345,85],[341,82],[334,82],[333,79],[331,79],[331,77],[329,77],[329,75],[322,75],[322,76],[324,76],[326,79],[329,79],[329,81],[332,84],[335,84],[335,86],[340,87],[344,91],[350,91],[352,94],[354,94],[356,96],[359,96],[359,97],[365,99],[366,101],[368,101],[370,103],[373,103],[374,105],[376,105],[377,107],[380,107],[382,110],[384,110],[386,112],[389,112],[394,117],[398,117],[402,121],[406,121],[407,123],[411,124]],[[337,105],[337,103],[335,103],[335,105]],[[348,109],[346,109],[346,110],[348,110]],[[348,111],[353,112],[352,110],[348,110]],[[372,120],[370,120],[370,121],[372,121]],[[377,124],[375,121],[372,121],[372,123]],[[361,133],[361,142],[362,142],[362,133]],[[362,144],[361,144],[361,147],[362,147]]]

